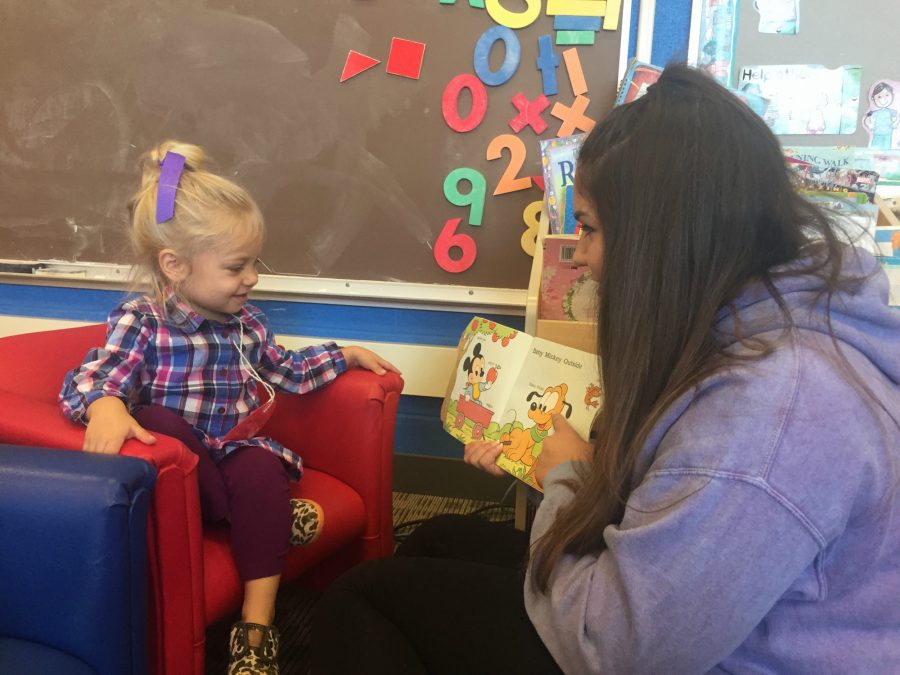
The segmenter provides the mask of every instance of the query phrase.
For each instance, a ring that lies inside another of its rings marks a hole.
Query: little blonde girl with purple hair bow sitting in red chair
[[[262,215],[238,185],[203,168],[203,151],[167,141],[146,157],[131,204],[137,268],[151,292],[116,307],[106,345],[92,350],[60,393],[63,412],[87,423],[84,449],[116,453],[151,432],[199,456],[201,510],[231,522],[244,581],[242,620],[231,629],[229,675],[277,673],[275,595],[290,543],[317,536],[317,504],[291,500],[302,462],[257,435],[274,389],[303,393],[349,367],[396,370],[361,347],[334,343],[286,351],[247,303],[256,285]]]

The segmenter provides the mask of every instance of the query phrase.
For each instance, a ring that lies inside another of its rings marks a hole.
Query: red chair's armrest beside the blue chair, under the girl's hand
[[[84,427],[66,419],[55,403],[0,391],[0,410],[14,411],[0,415],[2,443],[81,450]],[[182,672],[179,668],[193,661],[191,648],[203,640],[206,629],[197,457],[180,441],[154,435],[155,445],[129,440],[120,454],[144,459],[157,472],[147,522],[148,644],[151,659],[165,654],[167,663],[159,668],[151,663],[151,669]]]

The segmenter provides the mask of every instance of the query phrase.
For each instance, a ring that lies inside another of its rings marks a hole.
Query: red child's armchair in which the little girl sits
[[[0,338],[0,443],[80,450],[84,427],[59,410],[63,378],[105,326]],[[303,457],[293,496],[322,505],[322,534],[292,547],[282,580],[321,588],[352,565],[393,550],[391,483],[394,424],[403,380],[352,369],[302,396],[277,394],[262,433]],[[149,671],[202,675],[206,627],[237,610],[242,589],[227,526],[201,521],[197,459],[182,443],[156,434],[130,440],[121,454],[157,471],[147,524]],[[50,497],[48,497],[50,498]],[[60,504],[60,508],[65,508]]]

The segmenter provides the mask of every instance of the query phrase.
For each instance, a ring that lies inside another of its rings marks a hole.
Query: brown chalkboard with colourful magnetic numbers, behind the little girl
[[[491,43],[489,73],[503,72],[515,43],[520,59],[507,81],[483,87],[483,119],[465,132],[450,128],[443,101],[454,78],[473,74],[479,39],[498,25],[479,0],[3,3],[0,258],[129,262],[126,202],[139,184],[138,158],[175,138],[204,147],[213,168],[259,202],[268,226],[262,257],[278,274],[525,288],[531,258],[520,239],[526,208],[542,194],[530,180],[541,173],[538,141],[563,127],[554,105],[576,101],[563,59],[573,45],[556,44],[564,31],[547,13],[553,2],[506,0],[503,9],[487,0],[510,14],[540,11],[515,40]],[[617,19],[616,30],[594,31],[593,44],[574,45],[583,113],[597,120],[615,99],[618,18],[630,15],[630,2],[563,4],[608,6]],[[514,131],[512,99],[542,94],[545,35],[558,61],[558,92],[539,115],[547,128]],[[394,38],[424,45],[418,72],[415,47],[393,59]],[[362,69],[349,76],[351,50]],[[477,117],[477,98],[465,87],[451,96],[460,119]],[[503,134],[522,141],[520,167],[508,145],[492,146]],[[445,196],[445,179],[460,168],[484,176],[480,225],[469,223],[468,183],[456,186],[462,205]],[[530,187],[495,196],[508,172]],[[442,232],[475,246],[466,269],[437,263]]]

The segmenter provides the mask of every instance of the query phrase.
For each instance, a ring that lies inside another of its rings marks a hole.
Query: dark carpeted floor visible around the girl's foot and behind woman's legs
[[[508,500],[505,503],[509,503]],[[482,511],[483,510],[483,511]],[[483,512],[491,520],[512,520],[511,506],[453,497],[435,497],[406,492],[394,493],[394,538],[399,541],[423,519],[440,513]],[[310,617],[318,596],[294,584],[278,596],[275,625],[281,632],[281,675],[308,675],[307,653]],[[206,675],[225,675],[228,664],[228,631],[239,617],[210,626],[206,631]]]

